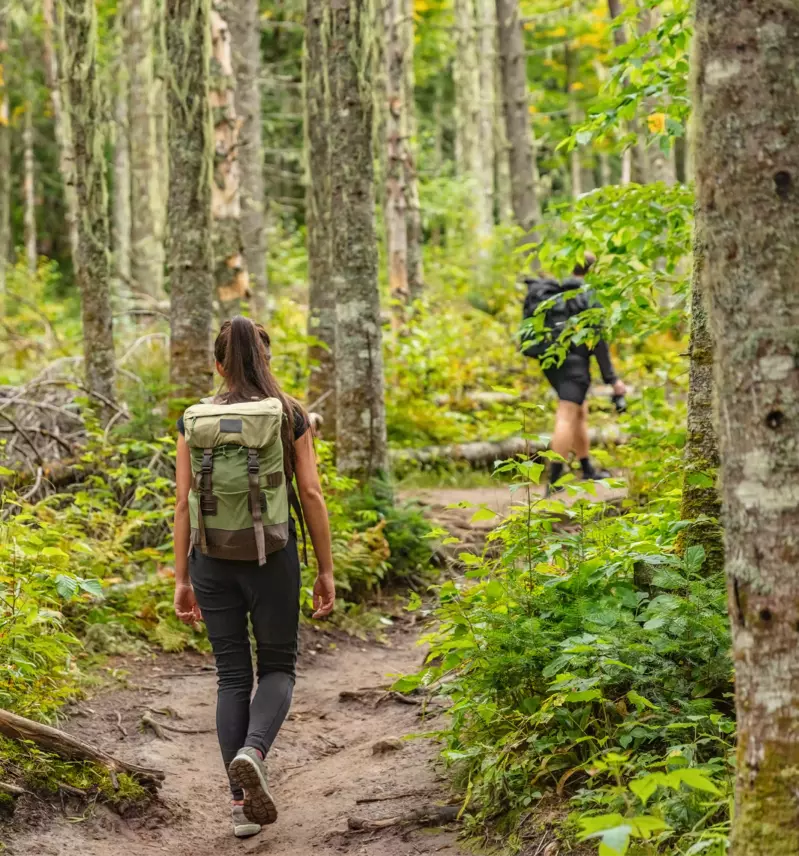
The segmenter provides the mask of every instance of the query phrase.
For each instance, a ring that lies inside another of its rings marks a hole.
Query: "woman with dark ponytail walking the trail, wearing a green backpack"
[[[299,511],[301,505],[317,557],[314,618],[332,612],[335,586],[313,432],[270,370],[269,336],[249,319],[234,318],[222,325],[214,356],[222,390],[178,420],[175,613],[186,624],[202,620],[208,629],[233,828],[245,838],[277,819],[265,761],[291,705],[300,614],[290,506]],[[257,652],[254,695],[248,619]]]

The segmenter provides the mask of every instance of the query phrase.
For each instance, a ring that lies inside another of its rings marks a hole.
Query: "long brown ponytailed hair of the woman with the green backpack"
[[[260,401],[277,398],[283,405],[283,465],[286,478],[294,476],[296,454],[294,450],[294,420],[298,417],[308,423],[302,405],[280,388],[272,374],[270,361],[272,343],[269,334],[260,324],[237,315],[225,321],[214,343],[214,357],[225,373],[225,386],[217,400],[225,404],[242,401]]]

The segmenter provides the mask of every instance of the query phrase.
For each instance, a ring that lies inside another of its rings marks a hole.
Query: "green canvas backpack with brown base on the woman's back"
[[[289,538],[298,511],[283,468],[283,406],[277,398],[219,404],[203,399],[183,417],[191,452],[191,545],[216,559],[258,560]]]

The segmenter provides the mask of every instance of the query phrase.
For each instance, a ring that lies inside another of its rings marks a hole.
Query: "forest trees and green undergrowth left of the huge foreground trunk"
[[[429,668],[398,685],[452,702],[467,832],[518,850],[554,806],[563,840],[601,854],[726,852],[690,11],[3,3],[3,708],[57,722],[109,654],[205,644],[171,616],[174,418],[211,388],[212,327],[245,312],[321,420],[342,628],[379,634],[376,591],[436,581],[453,539],[415,491],[492,479],[519,499],[437,587]],[[592,399],[615,507],[576,482],[541,498],[553,400],[518,354],[521,277],[586,252],[632,387],[618,421]],[[118,798],[102,770],[44,759],[0,744],[4,778],[46,791],[57,765]]]

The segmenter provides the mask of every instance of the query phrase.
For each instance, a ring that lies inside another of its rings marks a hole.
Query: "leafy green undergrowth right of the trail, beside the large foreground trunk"
[[[524,496],[542,467],[499,469]],[[583,490],[567,487],[569,505],[528,495],[486,556],[462,555],[463,583],[438,589],[429,665],[399,686],[451,701],[444,757],[473,832],[512,828],[555,791],[606,856],[683,853],[727,817],[723,576],[704,572],[701,548],[676,554],[677,496],[612,515]]]

